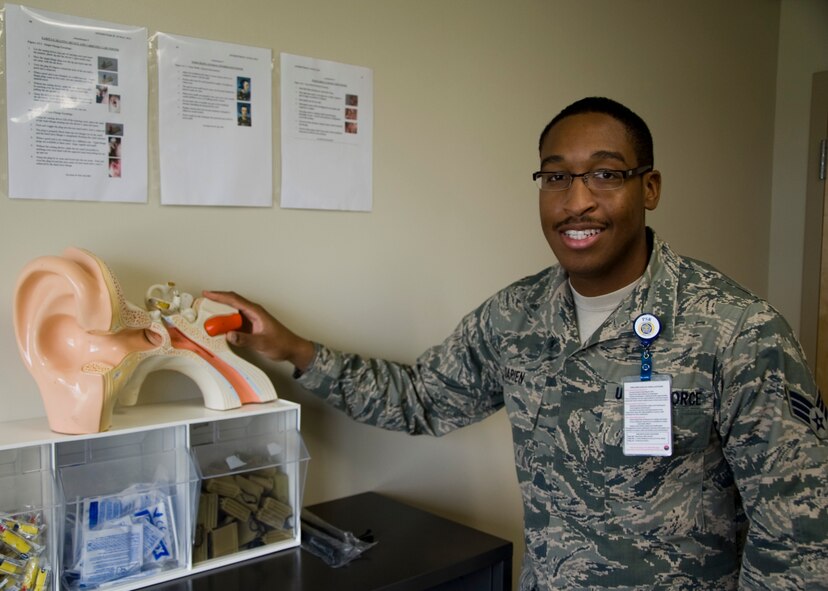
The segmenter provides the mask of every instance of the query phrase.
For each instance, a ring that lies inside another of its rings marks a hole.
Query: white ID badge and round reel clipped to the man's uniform
[[[650,345],[661,324],[652,314],[635,319],[641,341],[641,373],[624,379],[624,455],[673,455],[672,379],[653,374]]]

